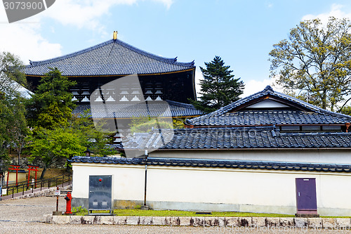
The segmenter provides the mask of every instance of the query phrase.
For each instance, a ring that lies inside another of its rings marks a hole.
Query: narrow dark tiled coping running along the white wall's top
[[[164,167],[214,167],[232,169],[267,169],[289,171],[326,171],[326,172],[351,172],[350,164],[314,164],[297,162],[265,162],[265,161],[241,161],[241,160],[189,160],[152,158],[126,159],[124,157],[73,157],[69,162],[76,163],[99,163],[99,164],[135,164]]]

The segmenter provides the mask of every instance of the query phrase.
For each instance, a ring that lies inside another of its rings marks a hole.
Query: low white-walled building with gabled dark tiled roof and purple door
[[[187,129],[135,134],[135,157],[73,157],[72,204],[110,175],[116,208],[350,216],[350,122],[267,86]]]

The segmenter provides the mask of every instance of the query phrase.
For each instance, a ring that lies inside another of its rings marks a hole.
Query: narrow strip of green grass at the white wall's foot
[[[108,211],[93,211],[94,213],[109,213]],[[294,217],[291,214],[264,214],[244,212],[212,212],[211,214],[195,214],[196,212],[185,212],[178,210],[143,210],[143,209],[114,209],[115,216],[208,216],[208,217]],[[85,211],[79,211],[76,215],[84,216]]]

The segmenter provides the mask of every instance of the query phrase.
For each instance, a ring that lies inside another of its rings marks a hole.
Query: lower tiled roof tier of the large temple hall
[[[149,103],[152,103],[149,105]],[[169,109],[165,110],[165,104],[169,105]],[[158,103],[157,101],[150,101],[146,104],[149,108],[145,108],[145,103],[131,104],[109,104],[109,105],[95,105],[94,118],[108,119],[108,118],[131,118],[131,117],[190,117],[202,115],[200,110],[194,108],[194,105],[186,103],[178,103],[173,100],[166,100]],[[77,105],[73,110],[74,114],[80,115],[84,111],[91,110],[90,104]],[[99,111],[100,110],[100,111]],[[123,110],[123,111],[117,111]],[[147,112],[148,110],[148,112]],[[170,110],[170,111],[169,111]],[[91,111],[88,112],[91,115]]]

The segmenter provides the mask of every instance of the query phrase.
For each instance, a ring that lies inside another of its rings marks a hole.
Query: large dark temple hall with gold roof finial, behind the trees
[[[74,100],[77,100],[77,109],[74,110],[77,114],[90,109],[91,103],[101,101],[99,97],[90,100],[94,91],[98,90],[100,95],[105,96],[105,103],[164,100],[171,108],[170,117],[201,115],[199,110],[188,104],[188,99],[196,98],[194,61],[180,63],[177,58],[163,58],[140,50],[117,39],[117,32],[114,32],[114,39],[66,56],[30,61],[25,67],[25,74],[34,90],[41,77],[50,71],[49,67],[57,67],[63,76],[77,82],[70,89]],[[135,86],[110,85],[131,74],[138,75]],[[134,112],[136,114],[131,113],[128,117],[138,115],[138,110]]]

